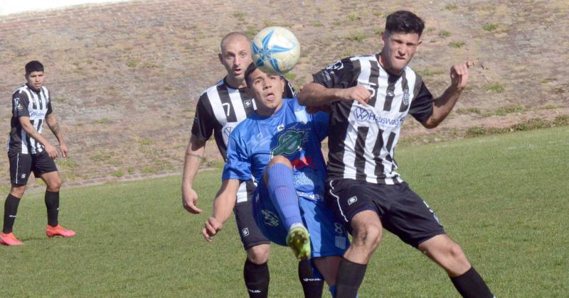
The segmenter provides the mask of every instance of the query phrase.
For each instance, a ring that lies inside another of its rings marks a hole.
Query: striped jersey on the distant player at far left
[[[46,87],[35,91],[24,84],[12,94],[12,118],[10,136],[6,150],[14,153],[41,153],[44,147],[23,130],[18,118],[30,117],[30,123],[41,133],[46,115],[51,114],[51,99]]]

